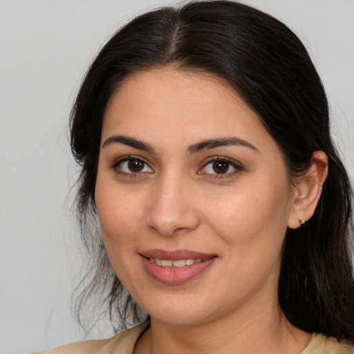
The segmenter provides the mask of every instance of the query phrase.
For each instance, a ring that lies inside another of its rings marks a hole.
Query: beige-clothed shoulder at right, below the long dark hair
[[[314,333],[301,354],[354,354],[354,346],[348,342],[338,342],[334,337]]]

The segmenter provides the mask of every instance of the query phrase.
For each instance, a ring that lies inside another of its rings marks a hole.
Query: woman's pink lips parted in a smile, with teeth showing
[[[178,285],[190,281],[205,272],[217,257],[189,250],[147,250],[140,253],[147,273],[154,280]]]

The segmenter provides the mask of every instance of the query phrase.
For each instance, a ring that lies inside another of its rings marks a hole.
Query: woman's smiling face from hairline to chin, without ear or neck
[[[277,143],[221,79],[141,71],[106,107],[97,212],[115,272],[152,319],[277,306],[292,191]]]

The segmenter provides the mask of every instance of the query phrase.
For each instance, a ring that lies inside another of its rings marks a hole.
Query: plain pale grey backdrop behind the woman
[[[303,39],[354,176],[354,1],[249,0]],[[84,253],[67,139],[88,63],[118,27],[163,0],[0,0],[0,353],[84,339],[70,313]],[[111,335],[103,323],[90,337]]]

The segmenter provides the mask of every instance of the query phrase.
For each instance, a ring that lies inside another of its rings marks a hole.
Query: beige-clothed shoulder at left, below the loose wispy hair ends
[[[131,354],[138,337],[147,325],[144,323],[129,328],[109,339],[85,340],[32,354]]]

